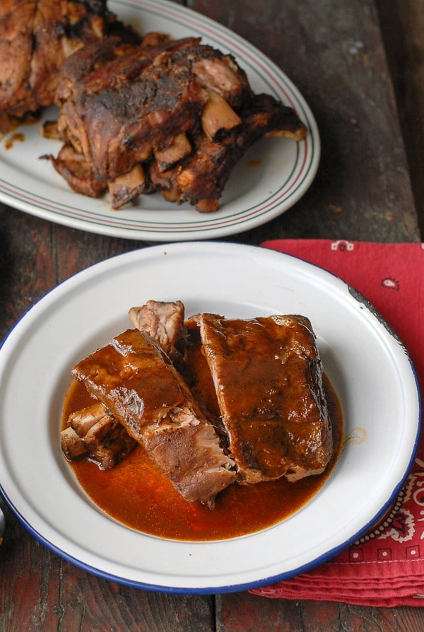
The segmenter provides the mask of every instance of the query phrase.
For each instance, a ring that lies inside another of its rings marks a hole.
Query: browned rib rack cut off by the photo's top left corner
[[[106,0],[1,0],[0,121],[52,105],[66,57],[112,33],[136,42]]]

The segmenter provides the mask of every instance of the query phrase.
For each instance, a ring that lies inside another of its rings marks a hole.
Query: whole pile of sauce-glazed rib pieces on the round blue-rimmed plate
[[[98,401],[61,432],[69,460],[109,469],[137,442],[187,501],[210,506],[235,481],[324,472],[331,420],[306,317],[184,321],[181,301],[155,300],[129,317],[136,329],[72,370]]]

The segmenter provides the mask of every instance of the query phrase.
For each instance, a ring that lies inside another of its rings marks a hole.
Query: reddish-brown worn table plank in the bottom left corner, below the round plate
[[[5,513],[1,632],[213,631],[213,596],[148,592],[95,577],[50,553]]]

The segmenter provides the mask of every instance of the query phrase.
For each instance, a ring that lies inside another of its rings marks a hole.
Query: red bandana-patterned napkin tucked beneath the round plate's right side
[[[262,246],[317,264],[370,300],[404,342],[424,394],[424,244],[274,240]],[[252,592],[370,606],[424,606],[424,437],[394,508],[372,532],[309,573]]]

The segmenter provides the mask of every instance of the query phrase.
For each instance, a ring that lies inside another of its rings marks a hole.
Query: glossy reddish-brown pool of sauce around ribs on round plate
[[[341,446],[342,415],[336,394],[324,380],[334,433],[334,457],[324,474],[289,483],[285,479],[253,486],[230,485],[216,498],[215,508],[187,503],[167,477],[153,465],[142,447],[108,472],[87,460],[73,461],[81,487],[105,513],[131,529],[182,541],[239,537],[281,522],[314,496],[328,479]],[[63,427],[71,412],[93,404],[80,382],[66,396]]]

